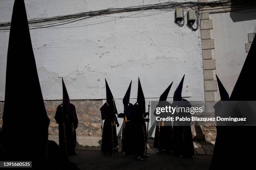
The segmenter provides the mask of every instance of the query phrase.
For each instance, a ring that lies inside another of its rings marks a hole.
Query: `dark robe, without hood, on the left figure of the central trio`
[[[113,154],[114,148],[118,146],[116,127],[118,124],[117,117],[107,102],[100,108],[101,119],[105,120],[102,131],[101,151],[104,153]]]

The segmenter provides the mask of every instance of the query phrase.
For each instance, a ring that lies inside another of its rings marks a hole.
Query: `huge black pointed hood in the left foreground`
[[[1,144],[10,160],[35,160],[36,163],[43,159],[48,126],[49,118],[38,80],[25,4],[23,0],[15,0],[7,54],[1,133]]]

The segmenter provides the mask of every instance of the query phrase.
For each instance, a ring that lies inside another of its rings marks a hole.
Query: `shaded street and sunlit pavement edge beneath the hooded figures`
[[[58,137],[49,135],[50,140],[57,143]],[[122,157],[119,148],[117,153],[105,156],[100,152],[100,137],[77,136],[77,152],[79,155],[69,156],[81,170],[208,170],[212,159],[214,143],[195,141],[195,158],[177,158],[169,153],[156,154],[153,148],[154,139],[148,139],[147,160],[135,160],[134,155]],[[119,138],[119,145],[121,140]]]

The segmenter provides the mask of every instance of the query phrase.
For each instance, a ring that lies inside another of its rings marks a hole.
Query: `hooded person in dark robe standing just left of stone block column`
[[[185,75],[184,75],[185,76]],[[177,89],[174,91],[173,107],[191,107],[191,104],[186,99],[182,98],[182,87],[184,76],[179,83]],[[191,114],[188,112],[180,111],[174,112],[174,120],[176,117],[189,117]],[[179,157],[194,157],[194,144],[191,132],[191,121],[174,121],[173,125],[173,138],[174,148],[173,153]]]

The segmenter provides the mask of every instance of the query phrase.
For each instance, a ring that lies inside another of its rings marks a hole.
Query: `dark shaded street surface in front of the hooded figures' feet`
[[[144,161],[138,161],[133,155],[122,157],[102,155],[95,150],[77,150],[79,155],[72,155],[69,159],[82,170],[208,170],[211,155],[195,155],[195,158],[177,158],[169,154],[149,154]]]

